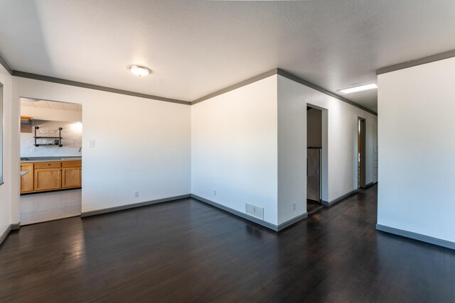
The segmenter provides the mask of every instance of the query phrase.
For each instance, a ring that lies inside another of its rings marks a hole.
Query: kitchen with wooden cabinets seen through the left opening
[[[21,225],[79,216],[82,105],[21,98]]]

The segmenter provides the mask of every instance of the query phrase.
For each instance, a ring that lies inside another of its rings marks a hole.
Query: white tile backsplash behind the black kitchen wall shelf
[[[35,136],[34,131],[33,133],[21,133],[21,157],[81,155],[79,149],[82,146],[82,123],[35,120],[33,121],[33,126],[39,126],[38,131],[58,131],[59,127],[63,128],[63,146],[61,148],[58,145],[35,147],[33,145],[35,143],[35,139],[33,138]],[[38,136],[44,135],[38,134]]]

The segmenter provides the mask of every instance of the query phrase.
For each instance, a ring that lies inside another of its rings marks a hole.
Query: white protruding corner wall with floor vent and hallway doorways
[[[275,225],[305,214],[307,104],[326,109],[323,199],[357,189],[358,116],[367,123],[373,182],[377,116],[274,75],[191,106],[191,192],[243,213],[245,203],[264,207],[264,221]]]

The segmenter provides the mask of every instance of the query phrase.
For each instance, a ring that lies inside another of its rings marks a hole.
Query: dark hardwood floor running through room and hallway
[[[376,190],[279,233],[192,199],[24,226],[0,302],[455,302],[455,251],[376,231]]]

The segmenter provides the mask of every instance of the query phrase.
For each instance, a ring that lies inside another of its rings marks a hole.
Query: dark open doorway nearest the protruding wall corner
[[[306,107],[306,211],[323,208],[323,111]]]

